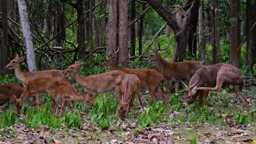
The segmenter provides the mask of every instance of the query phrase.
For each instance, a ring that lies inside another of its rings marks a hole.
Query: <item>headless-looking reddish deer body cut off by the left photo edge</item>
[[[21,87],[20,85],[17,85],[15,83],[9,83],[9,84],[4,84],[0,85],[0,101],[1,102],[6,102],[6,101],[11,101],[14,104],[17,104],[18,102],[14,99],[12,99],[13,95],[17,95],[18,98],[20,98],[20,95],[24,91],[24,87]],[[17,112],[20,113],[21,107],[17,109]]]

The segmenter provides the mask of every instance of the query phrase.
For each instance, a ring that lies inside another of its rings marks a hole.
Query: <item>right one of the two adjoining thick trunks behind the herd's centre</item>
[[[128,1],[118,1],[119,19],[118,19],[118,46],[119,46],[119,63],[127,67],[129,62],[128,55]]]

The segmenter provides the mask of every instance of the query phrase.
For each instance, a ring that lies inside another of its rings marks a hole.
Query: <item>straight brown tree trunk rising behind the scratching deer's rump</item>
[[[230,64],[235,67],[238,65],[237,49],[238,49],[238,37],[237,37],[237,1],[231,1],[231,43],[230,43]]]

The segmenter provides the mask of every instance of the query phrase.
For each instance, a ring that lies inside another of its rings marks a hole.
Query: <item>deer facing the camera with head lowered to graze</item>
[[[141,92],[139,91],[140,87],[141,86],[139,85],[139,79],[136,75],[125,75],[124,79],[120,84],[121,99],[118,100],[118,115],[120,118],[125,118],[128,116],[130,109],[133,107],[135,94],[137,95],[139,103],[141,104],[141,107],[144,110],[141,101]]]

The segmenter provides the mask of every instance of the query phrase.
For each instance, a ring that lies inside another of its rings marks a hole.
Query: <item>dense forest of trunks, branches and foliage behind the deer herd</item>
[[[37,65],[28,63],[31,70],[60,69],[77,59],[97,63],[107,47],[109,53],[120,48],[119,63],[126,67],[158,43],[170,46],[166,61],[225,62],[255,70],[254,1],[23,1],[27,14],[19,12],[18,2],[1,1],[2,72],[16,53],[35,59]],[[26,20],[31,39],[22,30]]]

